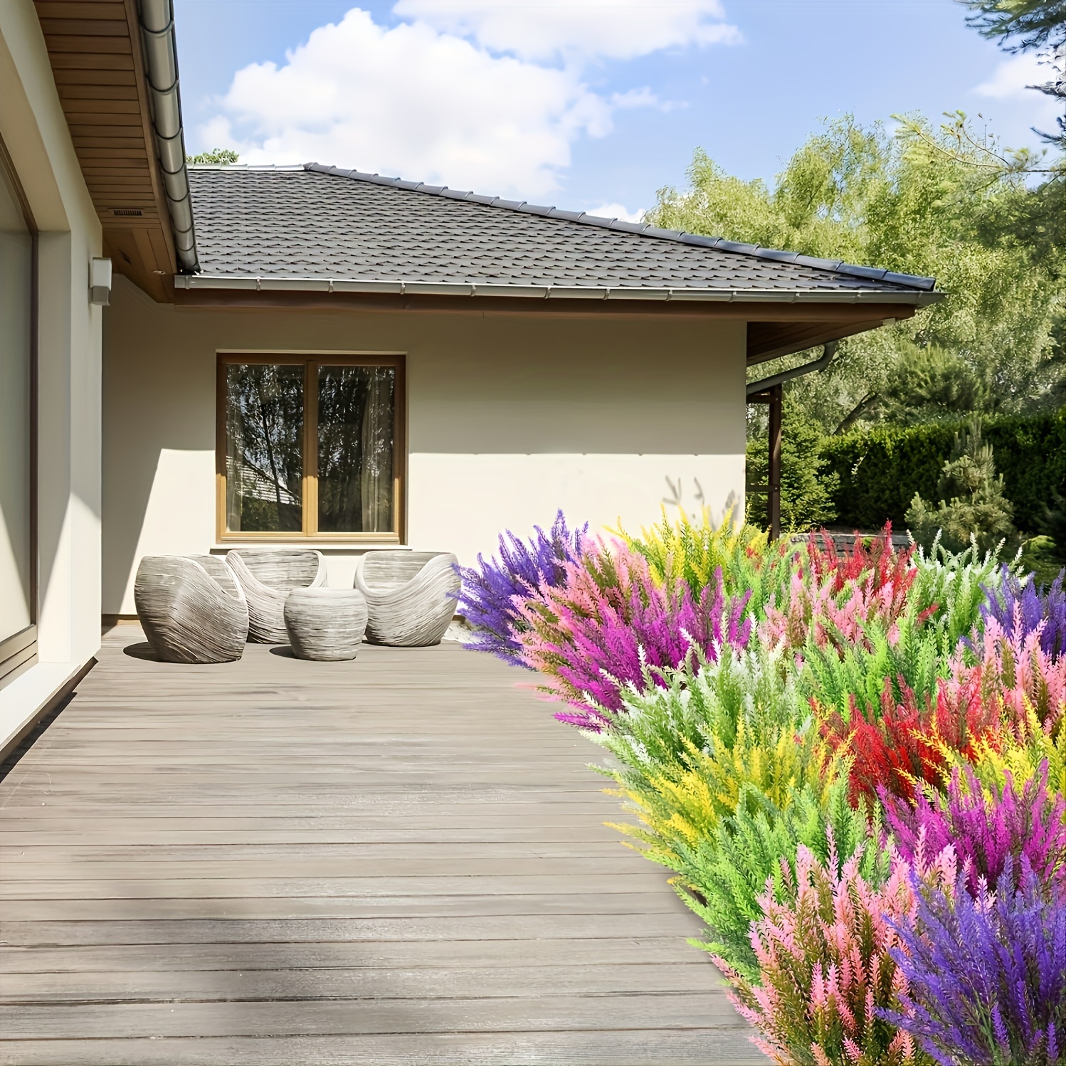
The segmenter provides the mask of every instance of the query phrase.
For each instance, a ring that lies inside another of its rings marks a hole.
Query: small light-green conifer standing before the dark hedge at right
[[[932,546],[940,533],[946,548],[964,551],[971,542],[985,550],[1015,536],[1014,504],[1003,495],[990,445],[982,443],[981,421],[972,418],[955,434],[951,456],[937,482],[938,505],[919,492],[906,514],[915,539]]]

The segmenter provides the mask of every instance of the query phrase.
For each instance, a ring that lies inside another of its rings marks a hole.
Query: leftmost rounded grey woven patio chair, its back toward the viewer
[[[217,555],[145,555],[133,601],[152,651],[171,663],[228,663],[248,636],[248,605]]]

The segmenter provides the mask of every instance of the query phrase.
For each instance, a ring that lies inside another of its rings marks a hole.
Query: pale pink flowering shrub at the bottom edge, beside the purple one
[[[778,1063],[924,1063],[910,1035],[884,1017],[907,994],[893,949],[917,906],[910,870],[897,861],[874,888],[854,857],[839,873],[836,867],[798,849],[791,899],[778,903],[770,891],[759,898],[763,917],[752,927],[752,944],[761,984],[720,960],[730,998],[760,1031],[754,1043]]]

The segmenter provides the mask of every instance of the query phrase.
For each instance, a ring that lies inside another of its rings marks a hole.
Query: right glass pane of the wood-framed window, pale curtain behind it
[[[389,531],[395,369],[320,366],[318,384],[319,532]]]

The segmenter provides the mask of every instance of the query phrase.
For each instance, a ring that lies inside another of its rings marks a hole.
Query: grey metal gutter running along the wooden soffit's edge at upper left
[[[196,232],[185,171],[185,141],[181,128],[178,92],[178,51],[174,42],[173,0],[140,0],[141,39],[151,91],[151,119],[156,152],[163,172],[163,190],[171,212],[171,229],[178,256],[178,271],[199,270]]]

